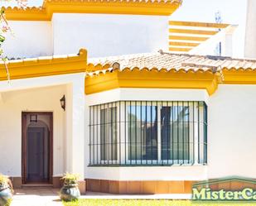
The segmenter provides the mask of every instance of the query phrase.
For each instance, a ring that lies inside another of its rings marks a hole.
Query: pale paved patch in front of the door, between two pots
[[[11,206],[63,206],[58,196],[59,189],[15,189]]]

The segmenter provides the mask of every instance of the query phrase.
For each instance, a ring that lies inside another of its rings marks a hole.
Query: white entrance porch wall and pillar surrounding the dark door
[[[0,172],[21,176],[22,111],[53,112],[53,175],[84,177],[85,74],[2,81],[0,84]],[[60,98],[66,96],[66,111]]]

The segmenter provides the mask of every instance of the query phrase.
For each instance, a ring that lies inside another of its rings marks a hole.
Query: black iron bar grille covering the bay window
[[[204,102],[118,101],[89,107],[89,165],[205,163]]]

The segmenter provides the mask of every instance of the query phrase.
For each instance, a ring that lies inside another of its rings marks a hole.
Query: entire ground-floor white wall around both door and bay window
[[[84,173],[85,178],[104,180],[205,180],[230,175],[256,178],[254,165],[256,85],[220,84],[219,89],[210,97],[203,89],[114,89],[85,95],[84,102],[82,97],[84,88],[81,85],[83,78],[84,74],[69,74],[13,80],[11,85],[2,82],[0,85],[0,171],[2,173],[21,175],[22,111],[52,111],[54,112],[54,175],[69,170]],[[72,84],[70,88],[73,81],[79,83]],[[41,84],[50,87],[42,88]],[[53,86],[54,84],[62,85]],[[71,89],[71,93],[68,89]],[[67,116],[60,108],[60,98],[64,93],[69,99],[67,107],[71,107],[70,101],[72,105],[76,105]],[[88,167],[89,105],[128,99],[205,101],[208,104],[209,124],[208,165]],[[67,119],[70,117],[71,122],[68,122]]]

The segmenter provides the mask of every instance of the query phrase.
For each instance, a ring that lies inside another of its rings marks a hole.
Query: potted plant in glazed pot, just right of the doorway
[[[78,180],[80,175],[66,173],[64,177],[64,185],[60,189],[60,199],[64,201],[74,201],[80,198],[80,190],[78,188]]]

